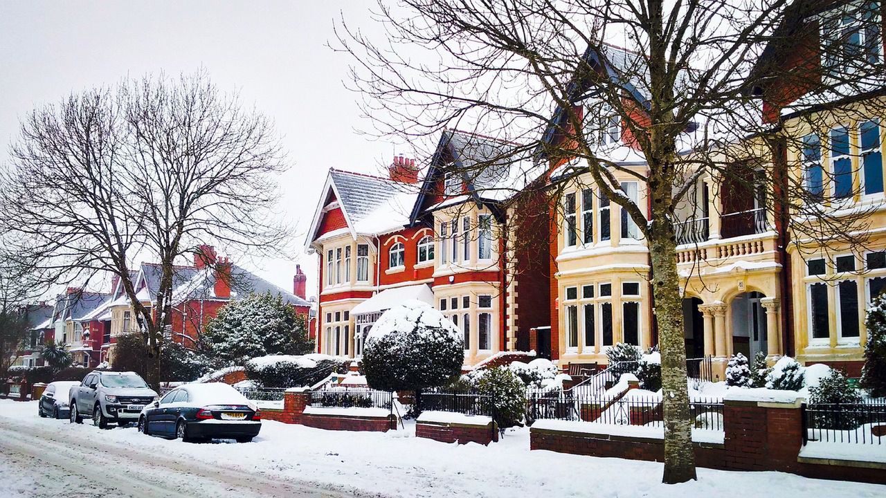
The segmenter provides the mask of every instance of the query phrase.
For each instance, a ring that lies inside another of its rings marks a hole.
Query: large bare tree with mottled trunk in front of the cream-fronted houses
[[[780,158],[786,147],[803,146],[802,130],[781,127],[778,110],[773,117],[760,109],[760,97],[808,91],[802,108],[821,112],[804,119],[820,127],[824,113],[852,113],[848,99],[882,90],[882,57],[857,57],[856,70],[822,76],[822,52],[841,60],[866,53],[851,36],[798,50],[818,43],[804,34],[814,32],[810,22],[828,25],[816,17],[828,4],[403,0],[378,4],[384,39],[337,23],[337,48],[354,60],[349,86],[363,95],[373,124],[367,133],[419,152],[456,127],[520,144],[462,174],[506,163],[521,172],[506,188],[521,192],[517,198],[544,191],[558,216],[575,214],[574,199],[566,206],[562,194],[583,183],[633,222],[649,247],[663,356],[665,483],[696,479],[680,291],[688,278],[678,273],[676,246],[680,227],[696,218],[684,207],[698,203],[697,183],[730,185],[724,191],[734,189],[733,198],[771,186],[760,200],[789,234],[781,245],[863,243],[866,210],[837,213],[845,192],[810,188],[804,175],[790,174]],[[872,9],[861,29],[880,34],[880,6],[870,5],[858,6]],[[784,64],[788,56],[799,64]],[[876,115],[869,105],[865,113]],[[624,178],[641,184],[648,206],[626,191]]]

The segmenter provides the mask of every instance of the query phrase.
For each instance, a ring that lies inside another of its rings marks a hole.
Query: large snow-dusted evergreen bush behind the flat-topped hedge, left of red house
[[[229,302],[206,324],[203,344],[216,366],[242,365],[268,354],[307,354],[314,340],[307,337],[303,315],[278,294],[248,294]]]

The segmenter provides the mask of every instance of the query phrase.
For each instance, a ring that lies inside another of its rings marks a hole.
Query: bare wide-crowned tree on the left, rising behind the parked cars
[[[51,282],[120,277],[157,385],[176,263],[201,245],[276,252],[287,234],[272,212],[283,170],[272,123],[206,74],[145,77],[27,115],[0,177],[0,222],[11,252]],[[150,259],[161,276],[145,305],[131,270]]]

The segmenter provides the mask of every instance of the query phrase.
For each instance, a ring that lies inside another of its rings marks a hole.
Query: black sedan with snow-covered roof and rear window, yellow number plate
[[[253,402],[230,385],[188,384],[144,407],[138,430],[184,441],[217,438],[244,443],[259,434],[261,417]]]

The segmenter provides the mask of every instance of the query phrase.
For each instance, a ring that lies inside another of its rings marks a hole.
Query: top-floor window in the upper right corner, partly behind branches
[[[821,14],[821,65],[839,82],[882,59],[879,2],[851,2]]]

